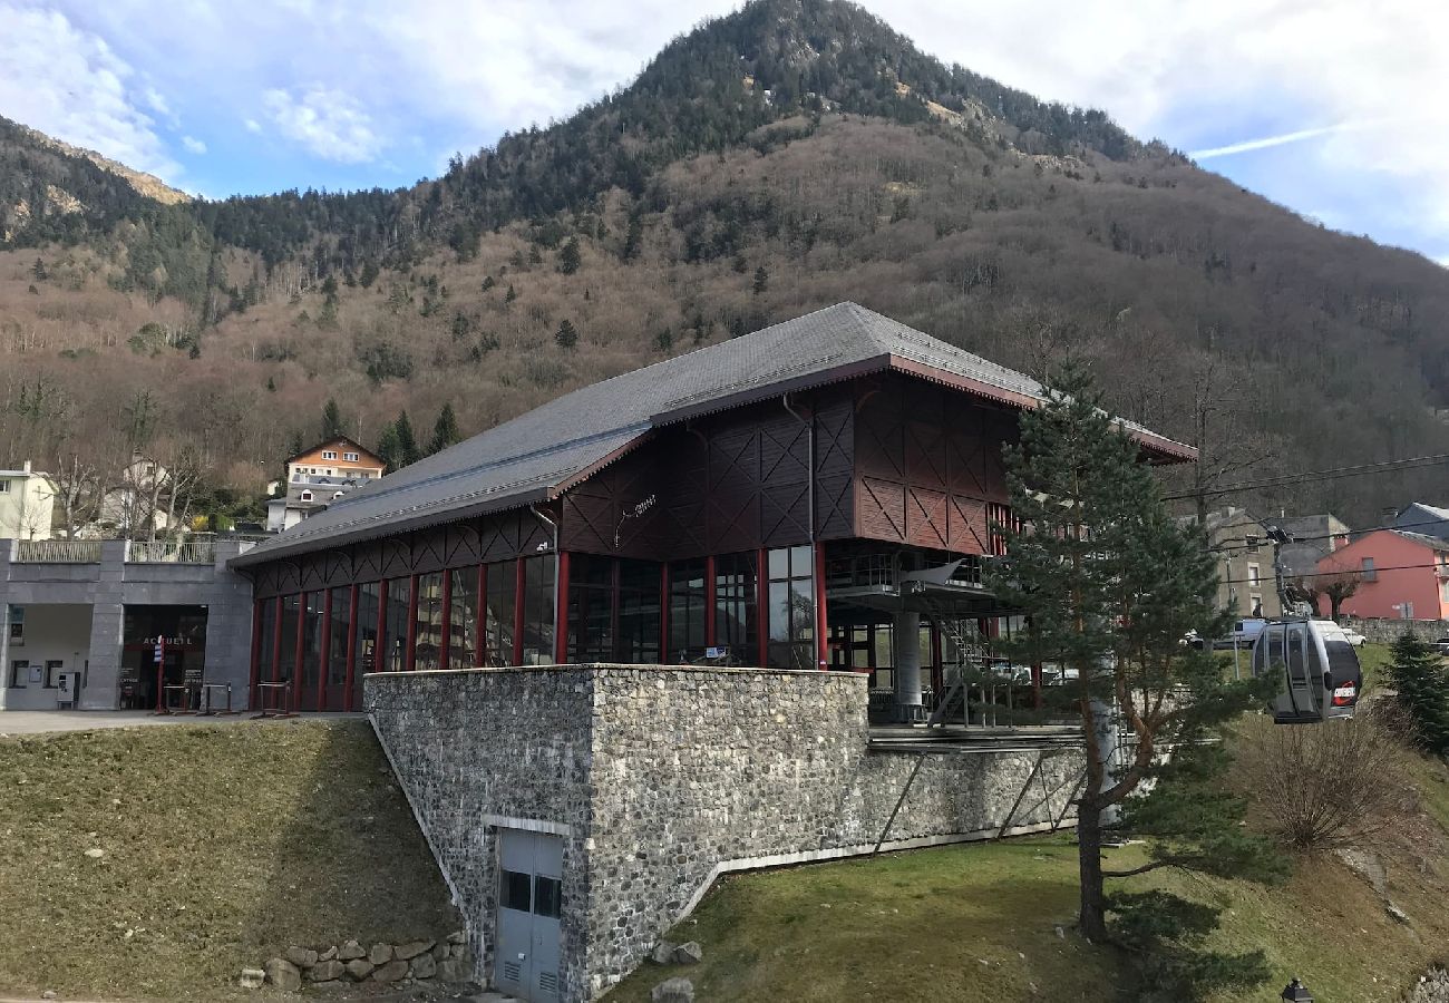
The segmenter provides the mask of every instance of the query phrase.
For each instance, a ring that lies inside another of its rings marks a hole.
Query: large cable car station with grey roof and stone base
[[[1016,625],[981,565],[1042,399],[853,303],[574,391],[233,559],[254,703],[371,713],[525,999],[597,996],[722,871],[1055,828],[1078,749],[871,729],[994,719],[952,680]]]

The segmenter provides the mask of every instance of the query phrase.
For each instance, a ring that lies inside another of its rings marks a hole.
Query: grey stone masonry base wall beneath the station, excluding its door
[[[1009,816],[1036,831],[1082,768],[1080,751],[872,751],[849,673],[565,665],[368,675],[365,693],[480,981],[498,829],[564,839],[564,1000],[633,970],[723,871],[984,838]]]

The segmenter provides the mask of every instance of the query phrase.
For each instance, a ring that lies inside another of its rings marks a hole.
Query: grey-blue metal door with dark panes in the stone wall
[[[500,990],[533,1003],[559,999],[562,877],[562,839],[522,829],[500,831],[498,951],[493,980]]]

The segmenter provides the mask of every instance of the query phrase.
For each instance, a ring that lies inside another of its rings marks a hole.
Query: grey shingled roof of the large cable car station
[[[1022,373],[855,303],[838,303],[565,394],[352,491],[235,564],[540,502],[651,428],[887,368],[964,383],[1009,403],[1043,396]],[[1190,446],[1123,425],[1164,452],[1193,455]]]

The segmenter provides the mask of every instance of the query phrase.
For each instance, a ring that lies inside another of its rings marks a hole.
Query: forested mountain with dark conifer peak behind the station
[[[33,136],[0,123],[16,459],[143,445],[255,491],[329,397],[369,445],[403,409],[426,439],[445,401],[474,432],[845,299],[1033,374],[1090,361],[1111,406],[1203,445],[1198,487],[1449,452],[1449,271],[846,3],[751,3],[406,190],[164,204]],[[1229,500],[1366,523],[1439,484]]]

